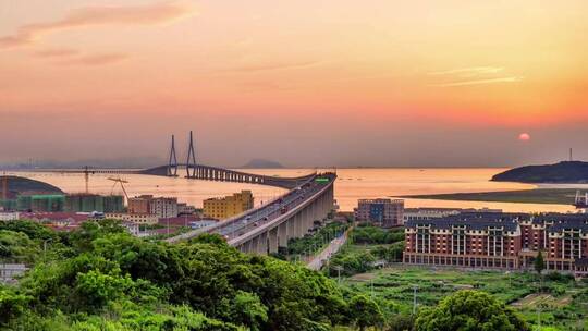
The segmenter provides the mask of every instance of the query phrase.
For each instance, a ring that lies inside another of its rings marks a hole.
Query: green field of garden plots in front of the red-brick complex
[[[424,269],[394,265],[369,273],[355,274],[342,283],[353,291],[395,303],[396,311],[413,308],[414,286],[418,306],[436,305],[458,290],[485,291],[518,310],[529,323],[551,329],[588,328],[588,283],[566,277],[544,277],[543,292],[535,273]],[[588,330],[588,329],[587,329]]]

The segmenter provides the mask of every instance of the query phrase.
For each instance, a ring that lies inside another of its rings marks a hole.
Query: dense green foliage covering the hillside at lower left
[[[44,236],[34,224],[20,226],[24,236]],[[168,245],[102,221],[52,241],[19,286],[0,289],[4,330],[323,330],[352,322],[333,281],[241,254],[218,236]]]

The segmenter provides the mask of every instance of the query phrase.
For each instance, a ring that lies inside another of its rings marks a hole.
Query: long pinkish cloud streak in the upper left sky
[[[41,36],[59,30],[103,25],[152,25],[171,22],[193,13],[193,8],[176,2],[150,5],[103,5],[77,9],[62,20],[27,24],[15,34],[0,37],[0,48],[33,44]]]

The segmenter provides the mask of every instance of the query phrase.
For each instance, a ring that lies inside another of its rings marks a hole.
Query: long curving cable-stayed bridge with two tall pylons
[[[158,176],[180,176],[201,181],[235,182],[270,185],[289,189],[277,199],[258,206],[242,214],[223,220],[211,226],[194,230],[167,240],[176,243],[203,233],[217,233],[244,253],[267,254],[285,247],[293,237],[307,234],[316,221],[323,220],[334,208],[334,172],[310,173],[298,177],[268,176],[220,167],[198,164],[193,134],[189,133],[186,162],[177,162],[175,138],[172,136],[168,164],[148,169],[61,169],[38,170],[60,173],[145,174]]]

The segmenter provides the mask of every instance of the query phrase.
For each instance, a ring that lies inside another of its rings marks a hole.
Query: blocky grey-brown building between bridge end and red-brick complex
[[[360,199],[354,213],[359,222],[371,222],[382,228],[400,226],[403,224],[404,200]]]

